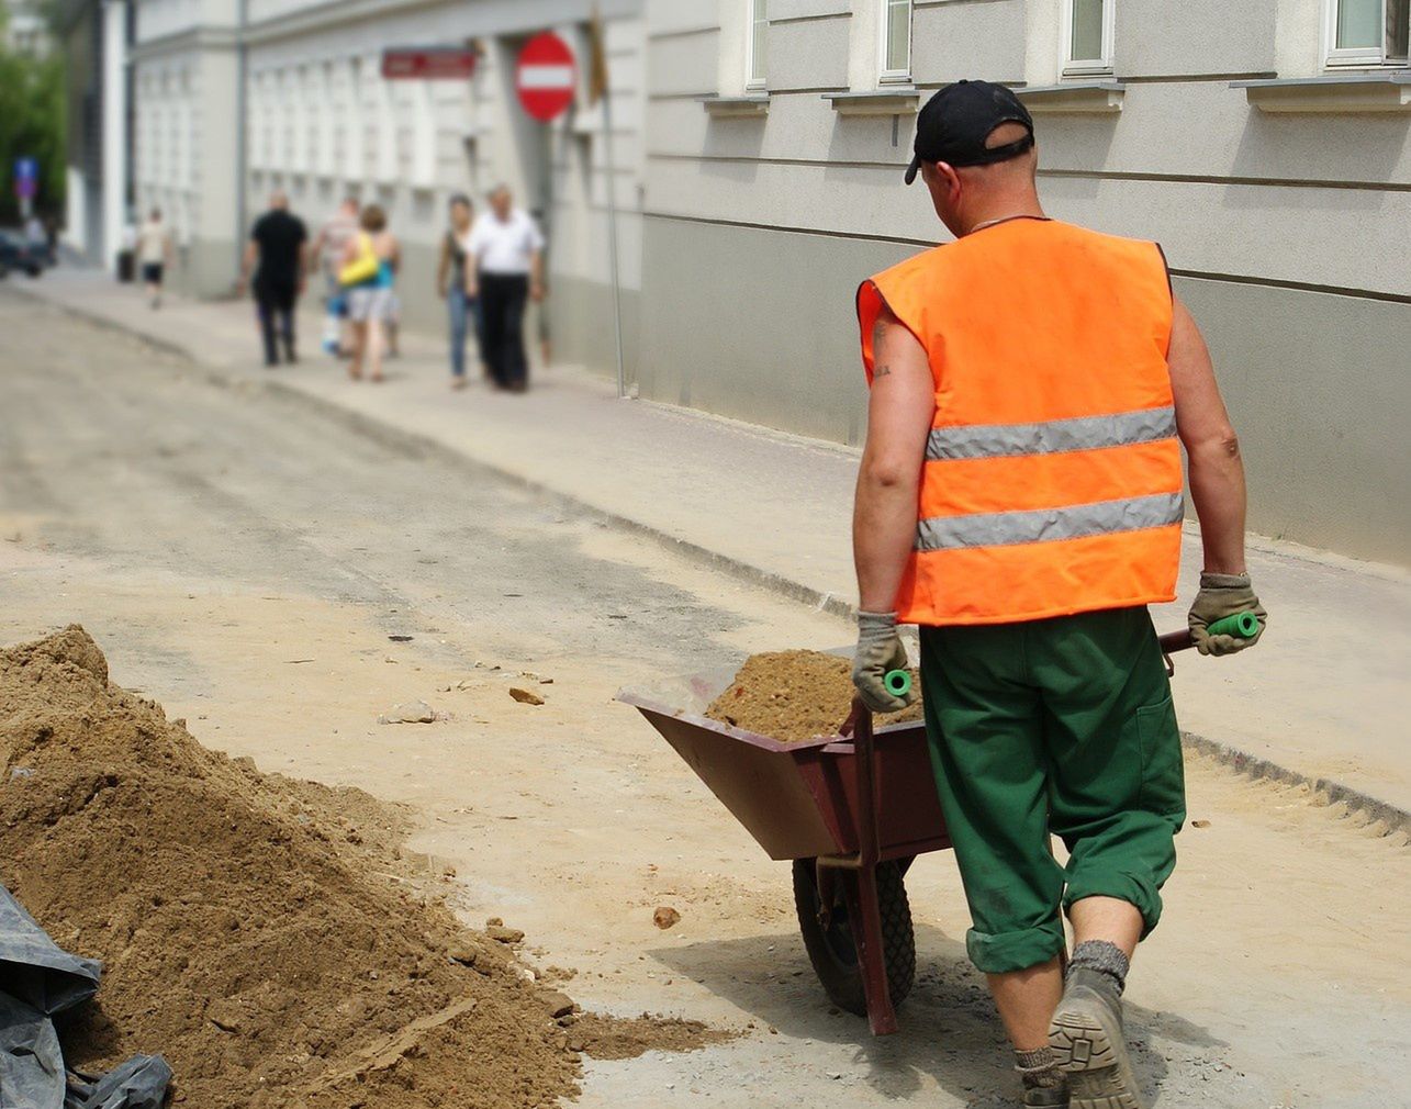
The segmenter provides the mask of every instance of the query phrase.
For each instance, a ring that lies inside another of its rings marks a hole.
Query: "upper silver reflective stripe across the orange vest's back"
[[[1144,408],[1112,416],[1082,416],[1044,423],[992,423],[937,428],[926,444],[927,461],[999,459],[1015,454],[1062,454],[1154,443],[1175,435],[1175,408]]]

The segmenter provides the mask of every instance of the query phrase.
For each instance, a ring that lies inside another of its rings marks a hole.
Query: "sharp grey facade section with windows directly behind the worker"
[[[959,78],[1034,111],[1048,213],[1158,240],[1250,526],[1411,547],[1407,0],[653,0],[641,395],[858,443],[859,279],[948,236],[902,172]]]

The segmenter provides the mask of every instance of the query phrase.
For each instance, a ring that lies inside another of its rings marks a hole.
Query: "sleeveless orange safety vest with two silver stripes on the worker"
[[[1154,243],[1016,219],[862,282],[872,381],[883,302],[935,381],[907,624],[1009,624],[1171,601],[1181,449]]]

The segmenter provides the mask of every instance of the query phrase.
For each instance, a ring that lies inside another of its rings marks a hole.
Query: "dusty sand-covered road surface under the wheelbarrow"
[[[203,742],[415,807],[466,916],[525,928],[581,1002],[745,1030],[594,1062],[583,1105],[1012,1103],[952,862],[912,871],[919,985],[872,1041],[821,998],[786,869],[611,701],[844,624],[4,293],[0,329],[0,639],[85,624]],[[553,679],[543,707],[509,698],[522,670]],[[447,718],[375,722],[412,698]],[[1199,760],[1188,782],[1208,825],[1129,990],[1157,1105],[1405,1103],[1404,837]]]

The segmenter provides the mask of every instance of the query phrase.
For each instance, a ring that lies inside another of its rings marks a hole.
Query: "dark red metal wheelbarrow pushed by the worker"
[[[1167,655],[1189,632],[1161,636]],[[828,999],[865,1016],[873,1036],[897,1030],[896,1006],[916,978],[906,872],[951,845],[935,796],[926,727],[873,725],[852,703],[837,735],[785,744],[704,715],[732,670],[622,690],[769,858],[793,863],[804,948]]]

